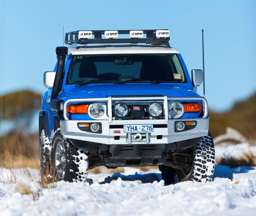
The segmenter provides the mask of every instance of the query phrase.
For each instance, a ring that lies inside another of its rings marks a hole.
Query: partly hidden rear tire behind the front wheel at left
[[[42,170],[46,170],[50,167],[50,153],[52,150],[52,143],[45,135],[44,130],[42,130],[40,135],[40,167]]]

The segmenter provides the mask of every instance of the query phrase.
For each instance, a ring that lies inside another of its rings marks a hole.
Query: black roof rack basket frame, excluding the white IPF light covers
[[[102,35],[105,34],[105,31],[90,31],[92,32],[92,36],[94,38],[79,38],[79,31],[67,32],[65,36],[66,44],[91,44],[91,43],[147,43],[151,45],[163,45],[168,46],[170,37],[157,37],[157,30],[141,30],[143,34],[146,35],[145,38],[102,38]],[[168,31],[167,29],[163,29],[163,31]],[[119,30],[117,31],[118,35],[129,35],[130,30]]]

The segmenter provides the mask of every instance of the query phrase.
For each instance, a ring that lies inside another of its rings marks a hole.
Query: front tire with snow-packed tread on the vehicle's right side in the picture
[[[182,170],[176,169],[178,181],[206,182],[212,181],[215,168],[215,149],[212,135],[208,131],[197,145],[193,147],[194,160],[190,173],[186,176]]]

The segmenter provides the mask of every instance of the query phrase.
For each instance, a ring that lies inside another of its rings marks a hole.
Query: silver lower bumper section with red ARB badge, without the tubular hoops
[[[195,128],[183,132],[175,132],[175,121],[197,121]],[[91,133],[79,130],[78,123],[93,123],[95,120],[62,120],[60,122],[61,132],[65,138],[76,139],[81,141],[89,141],[99,144],[131,144],[127,141],[127,133],[123,132],[123,128],[115,128],[115,125],[124,124],[153,124],[158,125],[154,128],[154,132],[150,132],[150,141],[147,144],[169,144],[178,141],[188,140],[192,138],[202,137],[208,134],[209,118],[188,118],[188,119],[169,119],[168,122],[163,120],[101,120],[102,133]],[[162,127],[161,127],[162,125]],[[111,126],[111,128],[110,128]],[[115,140],[114,130],[120,130],[118,134],[119,140]],[[160,137],[159,137],[160,135]],[[162,135],[162,137],[161,137]],[[158,137],[157,137],[158,136]],[[132,144],[142,144],[141,142],[132,142]]]

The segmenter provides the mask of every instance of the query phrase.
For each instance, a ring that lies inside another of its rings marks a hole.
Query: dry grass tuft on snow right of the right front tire
[[[240,166],[256,167],[256,155],[249,149],[240,157],[224,155],[221,158],[217,158],[216,164],[225,165],[230,168]]]

